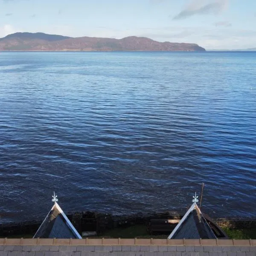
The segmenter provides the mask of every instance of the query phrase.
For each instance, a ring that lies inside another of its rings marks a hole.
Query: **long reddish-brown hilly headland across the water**
[[[157,42],[129,36],[122,39],[18,32],[0,38],[0,51],[205,51],[198,44]]]

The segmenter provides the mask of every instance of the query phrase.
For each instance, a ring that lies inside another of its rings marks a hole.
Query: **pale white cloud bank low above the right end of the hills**
[[[134,35],[161,42],[195,43],[206,49],[246,49],[256,45],[256,30],[235,29],[232,26],[168,26],[141,29]]]

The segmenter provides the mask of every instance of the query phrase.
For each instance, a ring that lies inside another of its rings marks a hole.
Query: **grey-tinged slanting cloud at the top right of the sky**
[[[229,0],[192,0],[173,20],[185,19],[193,15],[218,14],[227,8]]]

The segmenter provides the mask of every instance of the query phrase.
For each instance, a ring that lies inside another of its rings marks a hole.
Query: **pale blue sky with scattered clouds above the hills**
[[[256,0],[0,0],[0,38],[14,32],[256,47]]]

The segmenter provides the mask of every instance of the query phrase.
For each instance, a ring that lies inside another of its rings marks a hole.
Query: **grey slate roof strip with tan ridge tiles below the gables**
[[[0,239],[0,256],[256,256],[256,240]]]

